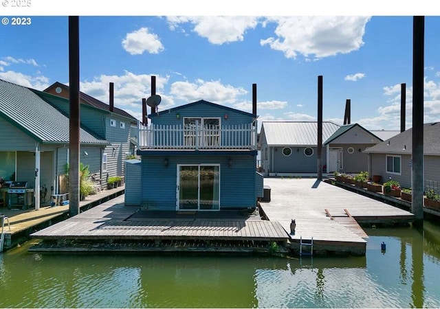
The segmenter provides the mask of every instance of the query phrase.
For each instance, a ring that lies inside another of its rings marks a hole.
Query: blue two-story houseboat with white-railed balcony
[[[169,211],[256,207],[263,196],[256,102],[253,111],[200,100],[148,115],[137,150],[140,181],[126,176],[126,205]]]

